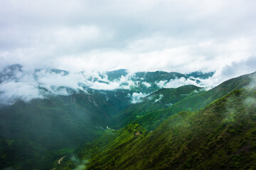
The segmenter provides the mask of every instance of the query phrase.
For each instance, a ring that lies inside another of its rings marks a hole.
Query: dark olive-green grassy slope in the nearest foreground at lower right
[[[255,98],[236,90],[172,115],[148,136],[92,157],[87,169],[256,169]]]

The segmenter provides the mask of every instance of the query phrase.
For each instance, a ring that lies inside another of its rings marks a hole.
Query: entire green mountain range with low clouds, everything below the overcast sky
[[[254,169],[256,73],[213,74],[6,67],[0,168]]]

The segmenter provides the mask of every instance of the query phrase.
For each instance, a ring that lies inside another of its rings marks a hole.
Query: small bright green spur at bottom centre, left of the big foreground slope
[[[113,164],[121,156],[121,152],[118,152],[119,149],[132,147],[134,142],[142,140],[148,134],[149,132],[138,124],[127,125],[121,130],[106,130],[105,134],[97,140],[76,149],[73,154],[68,154],[60,165],[55,164],[55,168],[69,170],[85,167],[81,165],[85,164],[91,157],[106,164]],[[76,157],[75,160],[74,157]],[[97,162],[92,166],[93,169],[102,169],[101,164]]]

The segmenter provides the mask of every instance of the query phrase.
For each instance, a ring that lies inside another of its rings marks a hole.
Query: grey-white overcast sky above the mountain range
[[[256,71],[255,0],[0,0],[0,67]]]

